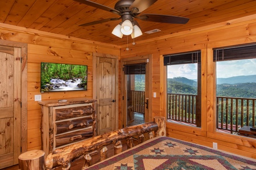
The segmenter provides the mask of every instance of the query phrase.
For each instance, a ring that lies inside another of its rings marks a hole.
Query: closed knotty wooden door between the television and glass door
[[[96,112],[98,134],[118,129],[117,58],[96,54]]]

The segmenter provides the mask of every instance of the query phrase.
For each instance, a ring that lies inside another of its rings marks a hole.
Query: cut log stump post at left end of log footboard
[[[44,151],[31,150],[19,155],[19,169],[33,170],[33,169],[46,169],[44,160]]]

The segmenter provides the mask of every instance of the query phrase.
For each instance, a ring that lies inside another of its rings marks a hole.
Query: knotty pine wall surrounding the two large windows
[[[170,26],[171,27],[171,26]],[[163,28],[164,29],[164,28]],[[136,42],[136,39],[135,39]],[[210,27],[191,28],[188,31],[172,33],[152,41],[137,42],[137,45],[121,48],[121,58],[152,54],[152,117],[166,116],[166,68],[163,55],[201,50],[202,80],[202,126],[192,128],[167,122],[167,135],[200,145],[212,147],[213,142],[220,150],[256,159],[256,139],[216,132],[216,95],[213,48],[239,44],[256,43],[256,15],[229,20]]]

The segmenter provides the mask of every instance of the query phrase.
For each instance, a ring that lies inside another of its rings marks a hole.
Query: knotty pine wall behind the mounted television
[[[67,99],[74,97],[93,98],[93,52],[120,55],[119,47],[92,41],[72,39],[6,24],[0,25],[2,40],[18,41],[28,44],[27,73],[27,150],[40,149],[41,111],[35,95],[40,95],[40,62],[57,62],[88,65],[88,90],[79,92],[43,93],[42,100]]]

